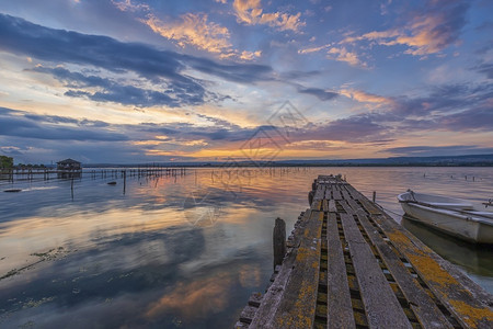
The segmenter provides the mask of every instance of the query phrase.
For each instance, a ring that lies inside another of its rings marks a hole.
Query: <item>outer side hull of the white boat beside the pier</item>
[[[416,203],[401,203],[402,209],[435,229],[475,243],[493,243],[493,225],[449,209],[422,206]]]

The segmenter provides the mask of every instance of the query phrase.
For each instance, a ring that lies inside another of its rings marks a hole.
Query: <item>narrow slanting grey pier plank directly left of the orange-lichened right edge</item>
[[[410,303],[410,307],[416,315],[420,324],[424,328],[452,328],[432,298],[421,287],[420,283],[411,275],[395,252],[392,251],[376,228],[369,223],[365,212],[359,209],[357,216],[368,238],[377,248],[385,264],[400,286],[404,297]]]

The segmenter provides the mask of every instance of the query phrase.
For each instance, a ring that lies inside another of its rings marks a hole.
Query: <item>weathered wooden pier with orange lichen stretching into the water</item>
[[[236,328],[493,328],[493,296],[351,184],[320,175],[312,188]]]

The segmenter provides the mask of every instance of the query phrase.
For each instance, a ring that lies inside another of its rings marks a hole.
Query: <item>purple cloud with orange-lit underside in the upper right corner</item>
[[[401,27],[348,36],[341,43],[370,41],[385,46],[406,46],[404,53],[414,56],[436,54],[458,41],[468,9],[466,1],[428,1],[422,11],[411,13],[409,23]]]

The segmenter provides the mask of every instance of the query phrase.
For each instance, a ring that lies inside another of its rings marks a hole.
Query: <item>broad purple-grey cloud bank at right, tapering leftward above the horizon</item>
[[[310,125],[290,136],[291,141],[337,140],[368,143],[403,138],[426,132],[493,131],[493,84],[445,84],[414,98],[386,98],[360,90],[343,89],[342,95],[376,104],[376,111]]]

